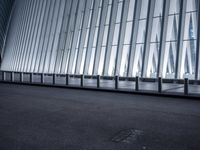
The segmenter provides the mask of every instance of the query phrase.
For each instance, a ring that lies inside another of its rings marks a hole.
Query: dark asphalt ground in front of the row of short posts
[[[199,150],[200,101],[0,83],[0,150]]]

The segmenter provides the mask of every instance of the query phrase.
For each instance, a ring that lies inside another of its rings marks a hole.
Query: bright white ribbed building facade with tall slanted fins
[[[200,79],[200,0],[15,0],[1,70]]]

